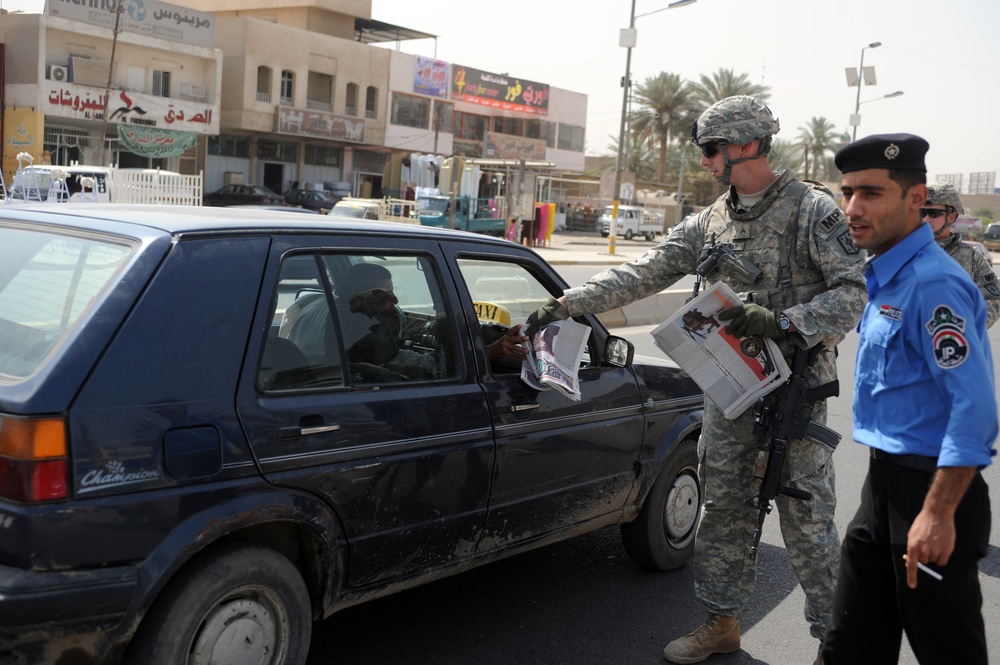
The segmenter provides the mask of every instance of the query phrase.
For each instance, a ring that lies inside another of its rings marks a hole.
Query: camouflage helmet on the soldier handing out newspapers
[[[778,120],[764,102],[748,95],[734,95],[705,109],[691,128],[691,140],[695,145],[712,141],[743,145],[767,139],[761,142],[764,154],[778,129]]]

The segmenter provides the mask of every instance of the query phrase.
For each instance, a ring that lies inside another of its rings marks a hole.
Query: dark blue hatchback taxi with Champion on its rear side
[[[340,608],[609,525],[683,565],[702,395],[593,317],[580,399],[490,360],[565,283],[480,235],[0,212],[0,660],[305,661]]]

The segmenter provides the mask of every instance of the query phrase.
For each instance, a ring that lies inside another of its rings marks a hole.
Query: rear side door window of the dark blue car
[[[425,256],[286,257],[258,386],[284,392],[454,378],[454,317],[439,285]]]

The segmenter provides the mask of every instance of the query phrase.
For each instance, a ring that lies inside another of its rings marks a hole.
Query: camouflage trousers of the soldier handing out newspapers
[[[826,404],[817,403],[814,420],[826,421]],[[754,469],[766,436],[753,434],[753,409],[734,420],[705,400],[704,430],[698,441],[699,475],[705,503],[695,540],[695,595],[706,612],[738,615],[753,592],[757,561],[750,554],[759,510],[746,505],[760,479]],[[779,495],[775,500],[795,575],[806,595],[805,618],[813,637],[822,639],[833,605],[840,567],[840,539],[833,516],[833,460],[807,441],[792,441],[786,471],[792,487],[812,500]],[[772,514],[769,519],[774,519]]]

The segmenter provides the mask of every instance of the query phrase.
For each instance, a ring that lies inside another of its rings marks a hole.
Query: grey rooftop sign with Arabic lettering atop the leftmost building
[[[48,0],[51,16],[101,27],[114,27],[118,0]],[[118,17],[118,30],[183,42],[191,46],[215,46],[215,17],[159,0],[130,0]]]

